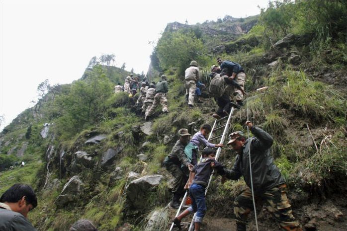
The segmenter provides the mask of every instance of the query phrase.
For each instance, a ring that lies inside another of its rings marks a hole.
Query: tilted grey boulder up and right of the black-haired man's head
[[[54,204],[58,207],[74,202],[79,199],[79,195],[83,190],[83,182],[79,176],[73,176],[68,183],[64,185],[64,188],[60,195],[55,200]]]

